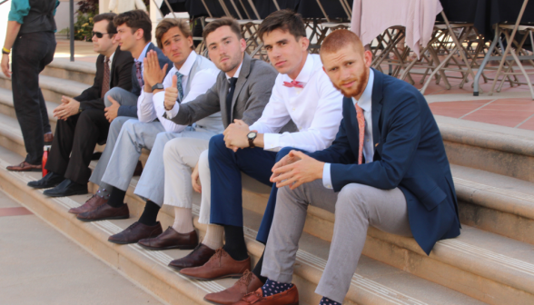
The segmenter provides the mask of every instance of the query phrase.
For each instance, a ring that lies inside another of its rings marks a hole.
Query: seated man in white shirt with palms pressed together
[[[213,113],[193,126],[173,123],[163,117],[163,88],[173,88],[178,103],[186,104],[215,84],[219,70],[207,58],[194,53],[193,36],[186,21],[163,19],[156,28],[156,38],[163,53],[173,61],[173,68],[165,77],[165,68],[159,67],[155,52],[147,54],[144,59],[143,92],[137,104],[139,120],[124,123],[102,177],[104,183],[112,185],[109,200],[93,211],[78,215],[82,221],[128,218],[128,206],[124,204],[125,191],[142,148],[151,149],[135,192],[147,200],[145,212],[128,229],[109,238],[115,243],[137,242],[162,232],[156,215],[163,204],[162,156],[165,143],[189,135],[208,140],[214,134],[223,132],[220,113]],[[161,191],[158,192],[158,189]]]

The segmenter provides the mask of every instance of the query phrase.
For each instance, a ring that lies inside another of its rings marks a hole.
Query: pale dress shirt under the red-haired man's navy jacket
[[[365,135],[363,136],[363,156],[365,157],[366,163],[371,163],[372,158],[374,157],[374,147],[372,147],[372,84],[374,84],[374,72],[370,69],[369,72],[369,81],[365,86],[365,90],[361,93],[360,100],[352,98],[352,103],[356,106],[356,103],[363,110],[363,117],[365,118]],[[324,168],[322,169],[322,184],[327,189],[332,189],[331,186],[331,172],[330,172],[330,163],[325,163]]]

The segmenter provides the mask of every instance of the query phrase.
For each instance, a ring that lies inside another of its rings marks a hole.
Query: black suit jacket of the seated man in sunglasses
[[[80,102],[82,110],[90,108],[104,110],[104,98],[101,97],[102,83],[104,82],[104,57],[104,55],[100,54],[96,58],[96,74],[94,75],[93,86],[74,97],[74,100]],[[127,51],[121,51],[120,46],[117,46],[111,65],[110,89],[113,87],[121,87],[128,91],[132,89],[133,64],[134,58],[132,54]]]

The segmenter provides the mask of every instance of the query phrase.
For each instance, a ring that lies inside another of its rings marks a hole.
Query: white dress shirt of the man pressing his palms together
[[[180,72],[180,74],[183,74],[182,85],[183,88],[185,88],[185,85],[187,84],[187,81],[189,79],[189,74],[191,73],[191,68],[193,67],[193,64],[196,60],[196,56],[198,55],[194,53],[194,51],[191,52],[191,54],[189,54],[189,56],[185,60],[185,63],[183,63],[180,70],[176,69],[176,67],[173,65],[173,68],[171,69],[171,71],[169,71],[169,73],[165,76],[165,79],[163,80],[163,88],[167,88],[173,85],[173,75],[176,74],[176,72]],[[183,96],[182,103],[193,101],[200,94],[206,93],[208,89],[210,89],[213,84],[215,84],[218,74],[219,70],[216,69],[203,69],[194,74],[189,93]],[[163,124],[165,131],[170,133],[182,132],[185,127],[187,127],[187,125],[179,125],[163,117],[163,113],[165,113],[164,100],[164,91],[153,94],[145,93],[143,90],[141,92],[141,95],[139,96],[139,99],[137,100],[137,117],[139,118],[139,121],[153,122],[153,120],[157,118],[160,120],[160,123]],[[175,103],[174,108],[178,109],[179,104],[180,103]],[[176,111],[176,113],[178,113],[178,111]]]

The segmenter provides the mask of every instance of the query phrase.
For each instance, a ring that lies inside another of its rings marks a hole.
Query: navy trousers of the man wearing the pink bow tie
[[[210,140],[208,160],[212,173],[212,210],[210,222],[219,225],[242,227],[242,181],[241,172],[263,184],[272,186],[267,208],[263,214],[257,241],[267,242],[271,230],[274,207],[276,206],[276,184],[269,181],[272,166],[292,148],[283,148],[280,152],[268,152],[262,148],[245,148],[236,153],[226,148],[223,134]]]

